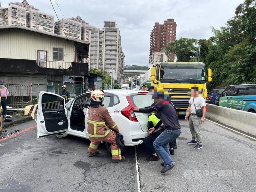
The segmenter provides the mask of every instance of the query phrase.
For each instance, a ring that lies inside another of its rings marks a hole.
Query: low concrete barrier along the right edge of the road
[[[256,113],[206,104],[205,117],[256,136]]]

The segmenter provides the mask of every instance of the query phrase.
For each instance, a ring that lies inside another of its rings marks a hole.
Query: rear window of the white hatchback
[[[151,94],[140,94],[140,95],[133,95],[129,96],[132,101],[134,107],[145,108],[151,107],[151,104],[154,103]]]

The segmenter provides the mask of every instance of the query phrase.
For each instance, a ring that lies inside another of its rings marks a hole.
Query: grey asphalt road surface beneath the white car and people
[[[8,129],[26,129],[30,121]],[[0,142],[2,191],[256,191],[256,141],[205,121],[203,149],[188,145],[188,122],[172,156],[175,167],[161,174],[160,161],[148,162],[143,145],[129,147],[126,161],[113,164],[103,145],[88,157],[90,142],[75,136],[36,138],[32,128]],[[139,183],[137,183],[139,180]],[[138,187],[139,186],[139,187]]]

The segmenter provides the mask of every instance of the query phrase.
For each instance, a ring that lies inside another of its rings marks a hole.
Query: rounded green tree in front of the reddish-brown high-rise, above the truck
[[[166,46],[165,54],[169,55],[170,53],[174,53],[177,57],[177,61],[189,61],[191,50],[198,50],[196,48],[196,39],[189,38],[180,38],[179,40],[170,41]]]

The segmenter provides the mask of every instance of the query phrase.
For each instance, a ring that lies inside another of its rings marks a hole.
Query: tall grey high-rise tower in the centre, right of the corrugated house
[[[114,80],[124,75],[124,52],[115,21],[105,21],[102,30],[90,30],[89,67],[106,70]]]

